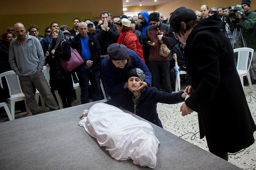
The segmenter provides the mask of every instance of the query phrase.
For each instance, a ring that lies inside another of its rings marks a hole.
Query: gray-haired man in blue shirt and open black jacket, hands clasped
[[[78,67],[77,76],[81,88],[81,102],[89,103],[88,86],[92,84],[92,101],[100,100],[100,43],[97,38],[88,33],[87,24],[80,22],[79,34],[71,40],[71,48],[76,49],[84,59],[84,64]]]

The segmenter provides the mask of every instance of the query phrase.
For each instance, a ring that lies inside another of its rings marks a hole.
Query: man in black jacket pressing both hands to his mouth
[[[103,59],[103,57],[108,54],[108,46],[117,42],[119,33],[116,29],[116,26],[109,22],[108,12],[101,12],[100,18],[103,23],[96,26],[95,37],[100,42],[101,57]]]

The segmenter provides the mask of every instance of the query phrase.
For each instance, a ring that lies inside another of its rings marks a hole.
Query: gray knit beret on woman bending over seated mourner
[[[129,49],[123,44],[111,44],[107,49],[111,60],[126,60],[129,58]]]

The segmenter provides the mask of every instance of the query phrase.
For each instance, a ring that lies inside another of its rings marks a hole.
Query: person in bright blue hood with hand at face
[[[135,29],[139,30],[144,37],[147,28],[150,26],[148,23],[148,11],[147,10],[141,11],[139,13],[139,19],[136,21],[135,24],[136,24]]]

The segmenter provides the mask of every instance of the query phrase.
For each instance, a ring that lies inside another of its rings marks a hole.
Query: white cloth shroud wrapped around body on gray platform
[[[100,146],[116,160],[132,159],[135,165],[156,167],[160,143],[148,122],[140,121],[117,107],[94,104],[79,122]]]

